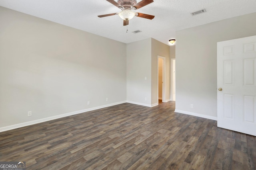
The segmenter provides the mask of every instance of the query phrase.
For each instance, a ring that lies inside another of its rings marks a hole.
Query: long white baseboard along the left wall
[[[24,127],[24,126],[34,125],[34,124],[42,123],[42,122],[45,122],[45,121],[59,119],[59,118],[62,118],[62,117],[67,117],[67,116],[70,116],[70,115],[76,115],[76,114],[84,113],[84,112],[87,112],[87,111],[92,111],[92,110],[101,109],[101,108],[104,108],[104,107],[109,107],[109,106],[114,106],[114,105],[118,105],[118,104],[123,104],[123,103],[126,103],[126,101],[116,102],[116,103],[112,103],[112,104],[108,104],[108,105],[103,105],[103,106],[92,107],[92,108],[89,108],[89,109],[73,111],[73,112],[70,112],[70,113],[64,113],[64,114],[61,114],[61,115],[56,115],[56,116],[52,116],[52,117],[46,117],[46,118],[43,118],[43,119],[38,119],[38,120],[34,120],[34,121],[28,121],[28,122],[24,122],[24,123],[19,123],[19,124],[16,124],[16,125],[10,125],[10,126],[6,126],[6,127],[1,127],[0,128],[0,132],[12,130],[12,129],[17,129],[17,128]]]

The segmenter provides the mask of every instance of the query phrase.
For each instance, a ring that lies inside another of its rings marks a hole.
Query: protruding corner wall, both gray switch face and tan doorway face
[[[128,102],[149,107],[158,104],[158,55],[166,57],[166,99],[170,99],[169,46],[149,38],[127,44]]]

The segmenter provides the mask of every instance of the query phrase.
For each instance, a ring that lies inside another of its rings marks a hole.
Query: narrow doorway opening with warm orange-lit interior
[[[158,100],[162,100],[162,102],[166,102],[166,94],[165,94],[165,75],[166,75],[166,59],[165,57],[158,56]]]

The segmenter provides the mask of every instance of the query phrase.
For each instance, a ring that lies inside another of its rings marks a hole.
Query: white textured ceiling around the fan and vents
[[[119,16],[97,17],[121,11],[106,0],[0,0],[0,6],[123,43],[152,37],[167,45],[175,31],[256,12],[256,0],[154,0],[136,12],[155,18],[134,17],[126,33]],[[204,8],[206,13],[191,16]],[[142,32],[132,33],[138,29]]]

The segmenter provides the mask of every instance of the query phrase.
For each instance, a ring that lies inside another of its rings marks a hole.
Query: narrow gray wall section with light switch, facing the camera
[[[151,38],[128,43],[126,53],[127,101],[151,106]]]

